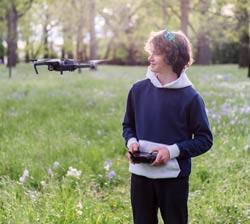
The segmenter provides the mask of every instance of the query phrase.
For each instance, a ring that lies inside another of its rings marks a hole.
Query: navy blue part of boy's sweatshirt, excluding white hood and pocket
[[[206,152],[213,143],[205,105],[198,92],[191,85],[156,88],[149,79],[135,83],[128,94],[123,137],[126,143],[136,138],[138,142],[176,144],[179,172],[169,177],[188,176],[191,157]]]

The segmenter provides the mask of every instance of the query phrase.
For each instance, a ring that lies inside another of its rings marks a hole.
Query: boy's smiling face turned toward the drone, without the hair
[[[149,52],[148,61],[150,63],[150,69],[154,73],[163,73],[167,68],[163,55],[155,52],[153,48]]]

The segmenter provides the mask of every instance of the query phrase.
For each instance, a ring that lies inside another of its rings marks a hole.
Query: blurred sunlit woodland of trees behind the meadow
[[[145,65],[152,31],[182,30],[196,64],[249,66],[248,0],[1,0],[0,61],[108,59]]]

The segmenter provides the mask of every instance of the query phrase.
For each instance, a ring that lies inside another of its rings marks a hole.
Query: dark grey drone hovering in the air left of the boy
[[[34,69],[38,74],[37,66],[47,65],[49,71],[58,71],[63,74],[64,71],[74,71],[78,68],[90,68],[97,69],[97,64],[105,60],[91,60],[88,63],[80,64],[74,59],[45,59],[45,60],[33,60]]]

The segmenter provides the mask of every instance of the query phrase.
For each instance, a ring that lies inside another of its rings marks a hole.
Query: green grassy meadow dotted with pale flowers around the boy
[[[0,223],[132,223],[121,122],[145,67],[65,73],[0,66]],[[250,80],[193,66],[214,146],[193,159],[189,223],[250,223]],[[162,222],[161,222],[162,223]]]

